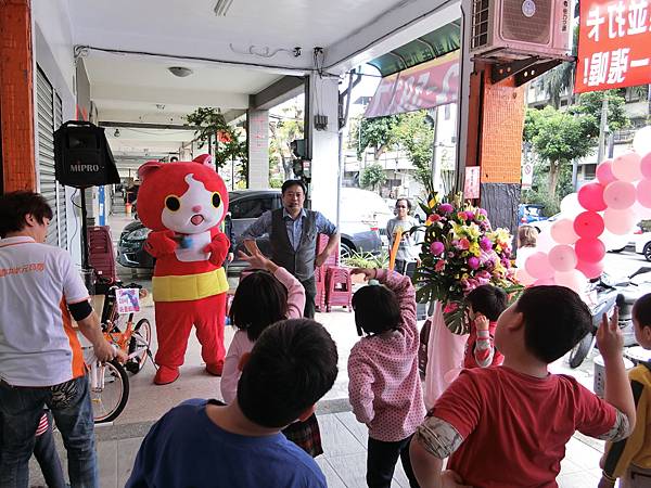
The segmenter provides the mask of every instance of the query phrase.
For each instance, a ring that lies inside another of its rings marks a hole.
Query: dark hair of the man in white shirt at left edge
[[[26,226],[25,217],[34,216],[39,222],[52,220],[52,208],[42,195],[35,192],[17,191],[0,195],[0,237],[10,232],[20,232]]]

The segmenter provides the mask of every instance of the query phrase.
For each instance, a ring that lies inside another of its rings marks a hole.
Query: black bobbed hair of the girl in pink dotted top
[[[367,285],[353,295],[357,333],[381,334],[397,330],[400,324],[400,305],[393,291],[384,285]]]

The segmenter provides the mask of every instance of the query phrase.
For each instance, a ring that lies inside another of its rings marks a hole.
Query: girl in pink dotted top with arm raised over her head
[[[390,487],[398,458],[411,487],[418,481],[409,442],[425,415],[418,372],[416,292],[409,277],[355,269],[369,285],[353,296],[357,333],[363,336],[348,358],[353,413],[369,428],[367,484]]]

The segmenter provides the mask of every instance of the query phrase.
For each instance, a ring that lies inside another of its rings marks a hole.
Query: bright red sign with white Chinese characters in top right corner
[[[650,1],[582,1],[576,92],[651,82]]]

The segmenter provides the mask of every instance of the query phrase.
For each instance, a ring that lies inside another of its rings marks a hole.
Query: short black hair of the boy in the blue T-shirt
[[[267,428],[289,425],[332,388],[337,360],[334,341],[314,320],[265,329],[238,383],[242,413]]]

